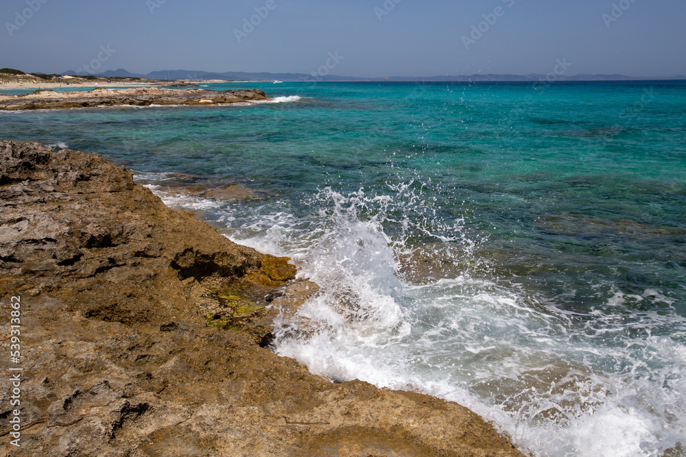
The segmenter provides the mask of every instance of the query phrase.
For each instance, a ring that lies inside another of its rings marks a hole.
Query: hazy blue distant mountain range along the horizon
[[[63,75],[77,75],[74,71],[67,71]],[[445,76],[431,76],[431,77],[410,77],[410,76],[396,76],[383,78],[365,78],[365,77],[351,77],[339,75],[325,75],[313,76],[305,73],[246,73],[244,71],[227,71],[226,73],[211,73],[208,71],[191,71],[191,70],[165,70],[152,71],[147,75],[140,73],[130,73],[124,69],[108,70],[104,73],[98,73],[95,76],[102,77],[140,77],[146,79],[178,81],[181,79],[191,79],[194,81],[206,81],[208,79],[222,79],[224,81],[283,81],[283,82],[314,82],[314,81],[341,81],[341,82],[410,82],[410,81],[425,81],[425,82],[537,82],[545,80],[545,75],[445,75]],[[686,76],[674,77],[630,77],[625,75],[574,75],[574,76],[556,76],[555,81],[644,81],[644,80],[667,80],[667,79],[686,79]]]

